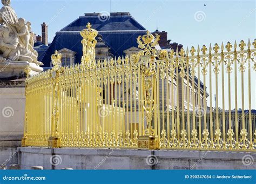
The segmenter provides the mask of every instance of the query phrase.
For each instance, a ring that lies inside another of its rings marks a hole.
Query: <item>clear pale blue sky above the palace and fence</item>
[[[167,31],[168,39],[184,47],[234,43],[256,38],[256,1],[171,1],[171,0],[11,0],[18,17],[32,23],[33,32],[41,35],[41,24],[49,25],[49,42],[55,33],[90,12],[130,12],[147,30]],[[245,96],[248,76],[245,73]],[[238,76],[239,77],[239,76]],[[256,109],[256,72],[252,72],[252,108]],[[219,78],[219,84],[221,79]],[[234,83],[232,81],[232,98]],[[240,81],[240,77],[238,78]],[[225,82],[225,84],[227,84]],[[208,86],[207,86],[208,87]],[[226,87],[226,86],[225,86]],[[239,88],[239,97],[241,91]],[[215,90],[213,86],[213,91]],[[219,88],[219,90],[221,90]],[[227,87],[226,87],[227,92]],[[221,91],[219,91],[221,96]],[[227,94],[227,93],[226,93]],[[214,96],[214,95],[213,95]],[[214,98],[214,97],[213,97]],[[227,96],[225,96],[227,107]],[[214,101],[214,99],[213,99]],[[221,102],[221,98],[219,99]],[[214,103],[213,103],[214,104]],[[238,99],[241,106],[241,100]],[[234,100],[232,100],[234,108]],[[248,109],[248,101],[245,102]]]

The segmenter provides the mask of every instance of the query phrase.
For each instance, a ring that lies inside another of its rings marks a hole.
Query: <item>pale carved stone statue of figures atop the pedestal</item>
[[[0,62],[27,61],[43,65],[33,49],[31,23],[18,18],[10,3],[10,0],[2,0],[0,10]]]

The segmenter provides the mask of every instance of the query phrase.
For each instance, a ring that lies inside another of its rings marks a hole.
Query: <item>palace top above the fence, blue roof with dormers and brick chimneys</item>
[[[111,12],[110,16],[101,13],[85,13],[78,19],[65,26],[65,28],[56,32],[56,36],[52,43],[48,43],[46,36],[48,35],[48,26],[42,24],[42,37],[38,37],[35,43],[35,49],[39,53],[39,61],[44,63],[44,68],[51,67],[51,54],[56,50],[63,55],[62,65],[70,65],[80,63],[83,51],[80,31],[85,29],[85,25],[90,22],[93,29],[98,31],[96,45],[96,59],[108,57],[122,57],[138,52],[137,38],[146,34],[146,28],[138,23],[129,12]],[[163,49],[179,49],[183,45],[177,43],[170,44],[167,40],[167,32],[159,32],[156,30],[152,34],[158,33],[161,36],[160,46]]]

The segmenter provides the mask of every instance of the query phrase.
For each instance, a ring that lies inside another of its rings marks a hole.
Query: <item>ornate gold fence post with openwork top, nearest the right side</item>
[[[140,40],[142,38],[142,40]],[[156,54],[157,50],[155,46],[158,44],[160,36],[156,36],[154,39],[153,35],[147,31],[147,35],[143,37],[139,36],[137,42],[139,48],[143,49],[142,57],[142,85],[143,85],[143,96],[142,106],[146,115],[147,127],[143,130],[143,135],[139,136],[138,147],[145,149],[158,149],[159,148],[159,135],[156,135],[156,131],[152,126],[153,111],[156,110],[156,83],[157,83],[157,72],[156,72]],[[157,123],[154,122],[154,127],[157,127]]]

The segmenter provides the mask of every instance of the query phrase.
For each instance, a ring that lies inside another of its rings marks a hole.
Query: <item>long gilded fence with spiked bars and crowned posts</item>
[[[23,146],[255,151],[256,39],[168,51],[147,32],[140,52],[96,61],[97,31],[81,35],[81,64],[56,52],[26,80]]]

